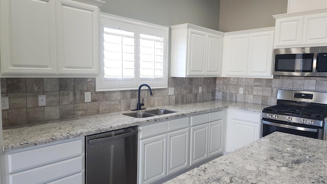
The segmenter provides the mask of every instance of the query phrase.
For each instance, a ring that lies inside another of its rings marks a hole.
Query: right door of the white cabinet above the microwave
[[[302,44],[327,43],[327,13],[306,15]]]

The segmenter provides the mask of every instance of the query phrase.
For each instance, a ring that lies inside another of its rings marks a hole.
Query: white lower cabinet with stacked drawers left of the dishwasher
[[[84,138],[5,154],[6,183],[84,183]]]

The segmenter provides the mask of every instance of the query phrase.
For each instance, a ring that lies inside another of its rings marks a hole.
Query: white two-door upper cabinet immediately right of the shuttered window
[[[172,77],[220,76],[222,32],[191,24],[171,29]]]

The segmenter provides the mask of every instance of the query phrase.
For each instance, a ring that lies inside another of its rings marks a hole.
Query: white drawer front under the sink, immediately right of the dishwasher
[[[146,125],[139,127],[139,139],[143,139],[145,137],[159,135],[167,132],[167,122],[155,123],[152,125]]]

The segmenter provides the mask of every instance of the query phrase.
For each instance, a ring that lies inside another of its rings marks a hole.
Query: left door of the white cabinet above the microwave
[[[303,16],[276,19],[275,24],[274,48],[301,44]]]

